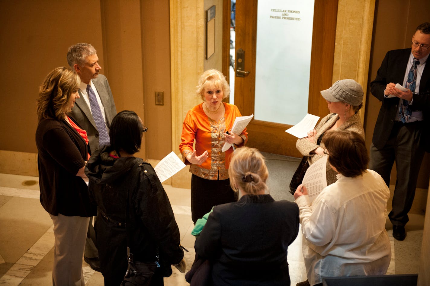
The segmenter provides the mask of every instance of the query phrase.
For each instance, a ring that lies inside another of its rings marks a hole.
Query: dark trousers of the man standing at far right
[[[405,225],[408,212],[414,201],[418,172],[424,148],[424,122],[395,122],[390,137],[383,148],[370,146],[369,169],[379,173],[390,186],[391,169],[396,162],[396,187],[393,195],[393,210],[388,217],[393,225]]]

